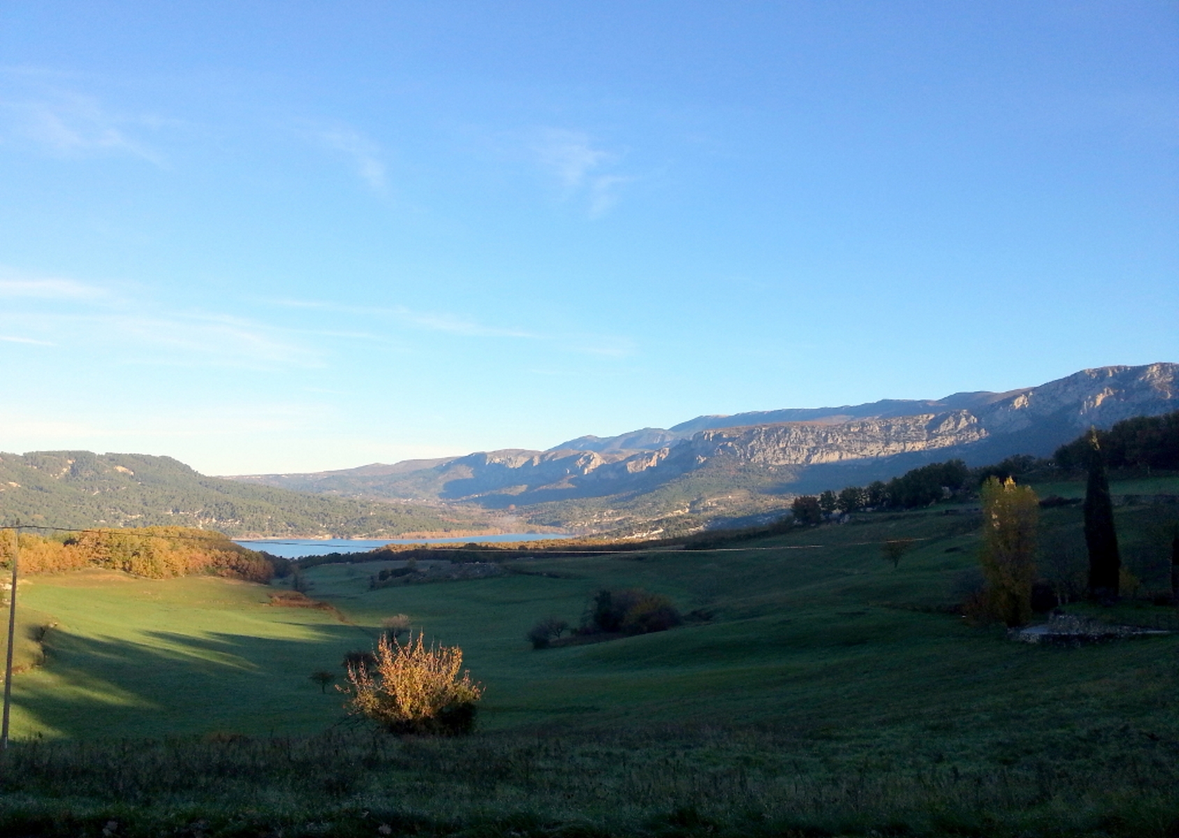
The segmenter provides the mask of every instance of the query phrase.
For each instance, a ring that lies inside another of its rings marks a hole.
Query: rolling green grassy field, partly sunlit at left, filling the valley
[[[1179,507],[1117,515],[1144,589],[1162,585]],[[55,625],[45,664],[14,684],[24,741],[0,817],[60,834],[104,818],[144,834],[1179,833],[1179,636],[1059,648],[966,625],[953,605],[977,524],[962,509],[862,515],[377,590],[369,574],[390,565],[309,569],[309,595],[336,612],[217,579],[34,578],[26,636]],[[1045,510],[1043,529],[1068,559],[1080,510]],[[900,537],[914,543],[894,569],[881,542]],[[597,645],[525,640],[619,587],[712,618]],[[399,613],[461,646],[486,685],[474,737],[374,737],[309,680]],[[1104,615],[1179,627],[1145,601]],[[111,745],[141,737],[157,741]]]

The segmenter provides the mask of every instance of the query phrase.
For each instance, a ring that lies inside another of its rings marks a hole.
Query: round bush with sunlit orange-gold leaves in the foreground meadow
[[[419,634],[402,646],[382,636],[373,667],[349,666],[348,710],[390,733],[468,733],[483,688],[463,672],[457,646],[427,647]]]

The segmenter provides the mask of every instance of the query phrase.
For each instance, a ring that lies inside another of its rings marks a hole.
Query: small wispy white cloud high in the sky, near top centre
[[[618,203],[619,189],[634,180],[612,172],[621,156],[600,147],[582,131],[546,128],[532,147],[536,161],[561,185],[566,199],[587,200],[591,218],[608,212]]]

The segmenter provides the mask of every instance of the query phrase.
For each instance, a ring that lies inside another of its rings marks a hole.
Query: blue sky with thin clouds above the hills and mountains
[[[1179,361],[1174,2],[7,2],[0,450],[348,468]]]

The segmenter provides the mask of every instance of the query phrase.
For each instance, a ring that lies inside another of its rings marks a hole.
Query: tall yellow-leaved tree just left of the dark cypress
[[[1040,501],[1030,487],[989,477],[982,484],[982,574],[990,613],[1008,626],[1032,616]]]

